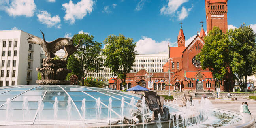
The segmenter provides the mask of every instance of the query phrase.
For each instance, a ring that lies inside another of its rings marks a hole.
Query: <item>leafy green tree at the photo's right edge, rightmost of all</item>
[[[228,38],[230,39],[232,51],[231,67],[233,72],[238,76],[237,80],[244,83],[243,88],[246,88],[247,76],[254,73],[253,67],[255,62],[250,60],[249,56],[256,48],[255,36],[250,26],[243,23],[239,28],[228,30]]]

